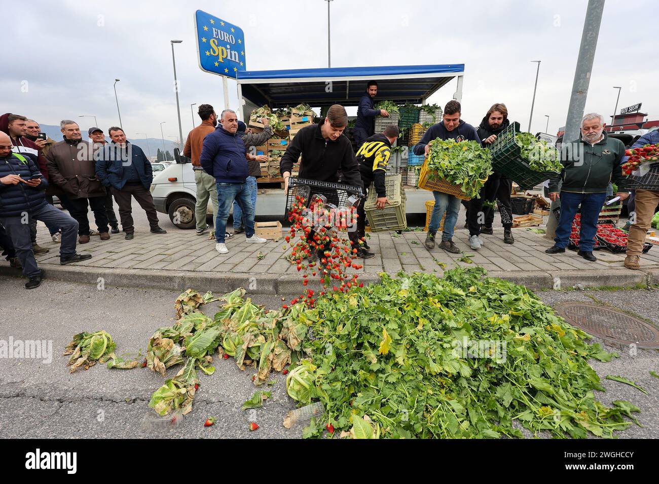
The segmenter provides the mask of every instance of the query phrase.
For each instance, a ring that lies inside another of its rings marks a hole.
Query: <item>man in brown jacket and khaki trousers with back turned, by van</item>
[[[202,144],[208,133],[215,131],[217,115],[210,104],[199,106],[199,117],[202,124],[188,133],[188,139],[183,148],[183,155],[192,159],[192,170],[194,171],[194,182],[197,185],[197,201],[194,205],[194,217],[196,219],[196,234],[202,235],[210,228],[206,223],[206,210],[208,209],[208,197],[213,203],[213,220],[217,219],[217,188],[215,178],[208,175],[202,169],[199,158],[202,154]]]

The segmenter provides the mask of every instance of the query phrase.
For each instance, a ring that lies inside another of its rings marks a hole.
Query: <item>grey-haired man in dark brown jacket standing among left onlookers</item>
[[[105,188],[96,178],[94,146],[82,141],[75,121],[65,119],[59,127],[64,141],[55,144],[46,156],[50,182],[67,196],[69,213],[78,222],[78,242],[89,242],[88,206],[94,212],[101,240],[108,240]]]

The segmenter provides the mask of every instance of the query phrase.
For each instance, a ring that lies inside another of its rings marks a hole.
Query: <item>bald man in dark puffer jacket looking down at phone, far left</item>
[[[12,152],[9,136],[0,132],[0,225],[7,231],[28,277],[26,289],[41,284],[42,271],[37,266],[30,241],[30,221],[40,220],[62,229],[59,263],[62,265],[90,259],[76,254],[78,223],[69,215],[49,205],[43,196],[48,186],[34,162],[21,153]]]

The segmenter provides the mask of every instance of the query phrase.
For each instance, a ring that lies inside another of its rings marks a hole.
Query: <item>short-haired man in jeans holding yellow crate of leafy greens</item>
[[[457,142],[466,140],[480,142],[474,126],[460,119],[461,111],[462,107],[458,101],[447,102],[444,107],[444,120],[428,128],[421,141],[414,147],[415,155],[428,155],[430,149],[428,143],[436,138]],[[435,248],[435,234],[440,227],[442,215],[446,212],[440,248],[451,252],[451,254],[459,254],[460,249],[453,243],[453,231],[455,230],[457,215],[460,212],[460,199],[436,190],[433,190],[432,194],[435,196],[435,208],[432,211],[432,217],[428,225],[428,235],[424,244],[428,250]]]

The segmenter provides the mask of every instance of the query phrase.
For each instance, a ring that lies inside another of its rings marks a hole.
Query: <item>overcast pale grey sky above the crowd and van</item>
[[[118,124],[117,83],[129,138],[146,132],[178,135],[169,40],[176,45],[183,133],[192,128],[191,103],[223,107],[219,76],[198,67],[194,12],[202,9],[241,26],[248,70],[327,67],[327,3],[277,1],[57,1],[12,9],[3,22],[1,111],[44,124],[96,115],[101,128]],[[536,65],[541,60],[532,132],[565,124],[587,2],[362,1],[331,3],[333,67],[465,64],[463,119],[478,124],[488,107],[504,102],[526,129]],[[587,111],[608,120],[643,102],[659,118],[656,1],[607,0]],[[430,99],[444,105],[455,81]],[[229,80],[233,109],[236,84]],[[350,112],[349,112],[350,114]],[[80,126],[93,124],[80,119]],[[196,117],[195,124],[199,124]],[[171,138],[170,138],[171,139]]]

